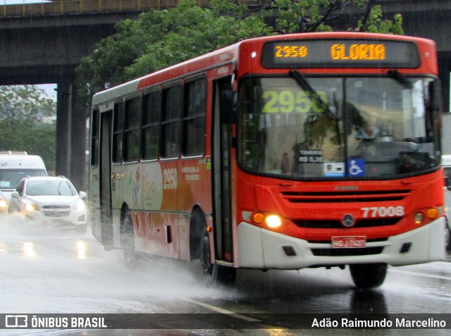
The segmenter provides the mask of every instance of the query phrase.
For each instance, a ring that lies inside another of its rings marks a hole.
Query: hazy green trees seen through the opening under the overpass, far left
[[[35,85],[0,87],[0,150],[39,155],[55,170],[56,123],[39,122],[55,115],[56,101]]]

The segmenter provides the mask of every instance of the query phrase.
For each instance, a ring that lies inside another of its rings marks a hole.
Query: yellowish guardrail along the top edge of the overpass
[[[15,1],[20,2],[20,0]],[[54,0],[39,1],[35,4],[8,4],[0,0],[1,17],[23,17],[39,15],[66,15],[83,13],[104,13],[123,11],[148,11],[150,9],[171,8],[180,0]],[[257,4],[259,1],[254,1]],[[209,0],[197,0],[199,6],[209,6]]]

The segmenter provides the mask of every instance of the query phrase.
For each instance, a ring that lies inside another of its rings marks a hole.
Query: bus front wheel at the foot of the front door
[[[200,243],[200,264],[202,275],[208,285],[233,285],[235,282],[235,268],[211,263],[210,239],[206,231]]]

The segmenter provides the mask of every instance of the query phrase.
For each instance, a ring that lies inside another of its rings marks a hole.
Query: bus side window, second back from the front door
[[[161,116],[161,157],[178,158],[180,154],[180,123],[182,85],[163,89]]]

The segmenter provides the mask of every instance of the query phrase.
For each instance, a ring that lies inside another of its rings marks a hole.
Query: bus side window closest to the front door
[[[202,155],[205,151],[206,79],[185,84],[183,116],[183,155]]]

